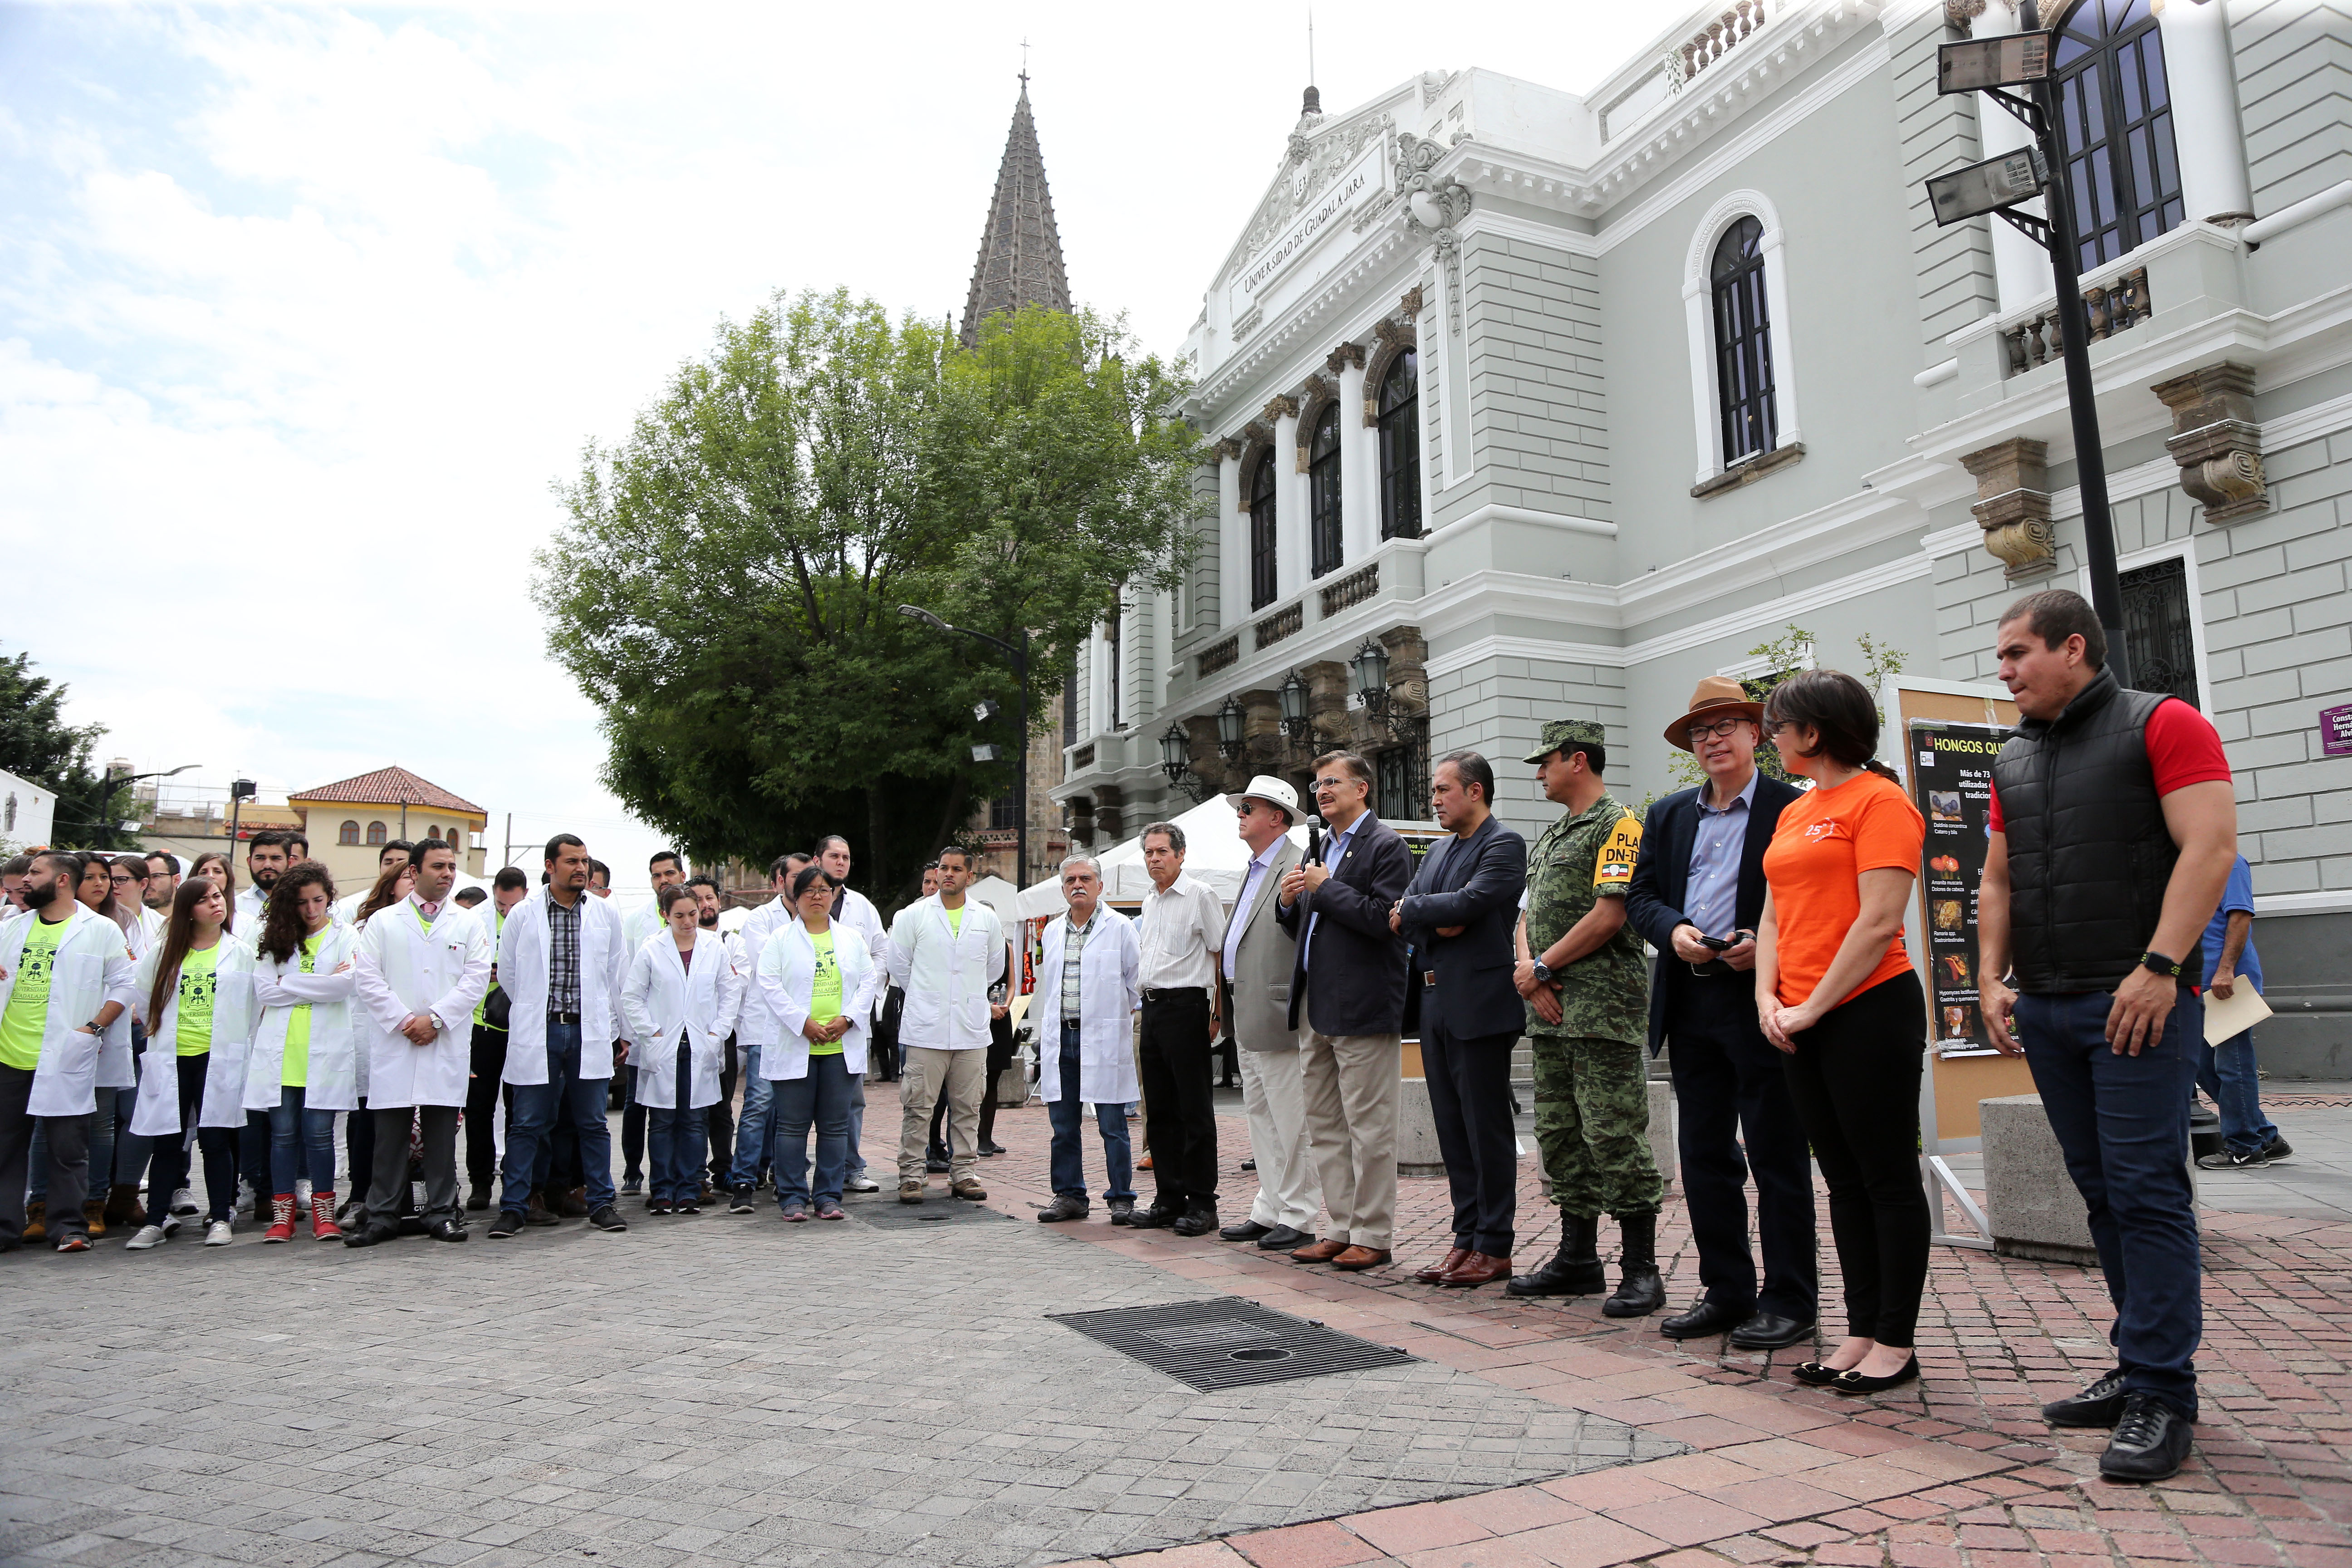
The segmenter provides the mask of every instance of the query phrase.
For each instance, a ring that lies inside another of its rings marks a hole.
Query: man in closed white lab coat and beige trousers
[[[988,987],[1004,978],[1004,924],[964,898],[971,858],[938,851],[938,893],[898,912],[889,936],[889,978],[906,987],[898,1041],[906,1048],[898,1103],[898,1201],[924,1197],[924,1143],[931,1103],[948,1095],[948,1190],[981,1201],[971,1175],[981,1093],[988,1086]]]

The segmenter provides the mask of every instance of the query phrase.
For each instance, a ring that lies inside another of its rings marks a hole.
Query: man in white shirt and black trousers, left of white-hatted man
[[[1160,1185],[1138,1229],[1169,1227],[1178,1237],[1216,1229],[1216,1103],[1211,1046],[1216,1044],[1216,947],[1225,907],[1200,877],[1183,872],[1183,827],[1143,830],[1143,1025],[1136,1060],[1143,1074],[1143,1143]]]

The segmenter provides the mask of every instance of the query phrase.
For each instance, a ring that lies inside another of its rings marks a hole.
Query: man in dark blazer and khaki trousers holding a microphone
[[[1322,863],[1291,867],[1275,910],[1298,938],[1289,1020],[1298,1027],[1303,1004],[1308,1145],[1331,1215],[1331,1232],[1291,1258],[1338,1269],[1388,1262],[1397,1227],[1404,938],[1388,914],[1414,875],[1414,851],[1369,806],[1369,762],[1352,752],[1315,759]]]

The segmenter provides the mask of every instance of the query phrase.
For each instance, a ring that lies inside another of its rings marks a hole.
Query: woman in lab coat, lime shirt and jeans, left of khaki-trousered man
[[[776,1206],[786,1220],[840,1220],[849,1173],[849,1086],[866,1074],[873,1001],[882,987],[866,936],[833,919],[840,889],[823,867],[793,877],[800,922],[776,931],[760,952],[760,992],[776,1009],[776,1041],[760,1070],[776,1091]],[[809,1128],[816,1128],[816,1178],[809,1178]]]

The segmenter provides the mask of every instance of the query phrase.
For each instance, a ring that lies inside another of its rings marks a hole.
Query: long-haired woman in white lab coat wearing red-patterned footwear
[[[310,1237],[341,1241],[334,1222],[334,1112],[358,1110],[367,1070],[353,1030],[358,933],[334,919],[334,877],[296,860],[263,914],[254,950],[261,1020],[245,1053],[245,1110],[270,1117],[270,1227],[294,1239],[294,1182],[310,1178]]]

